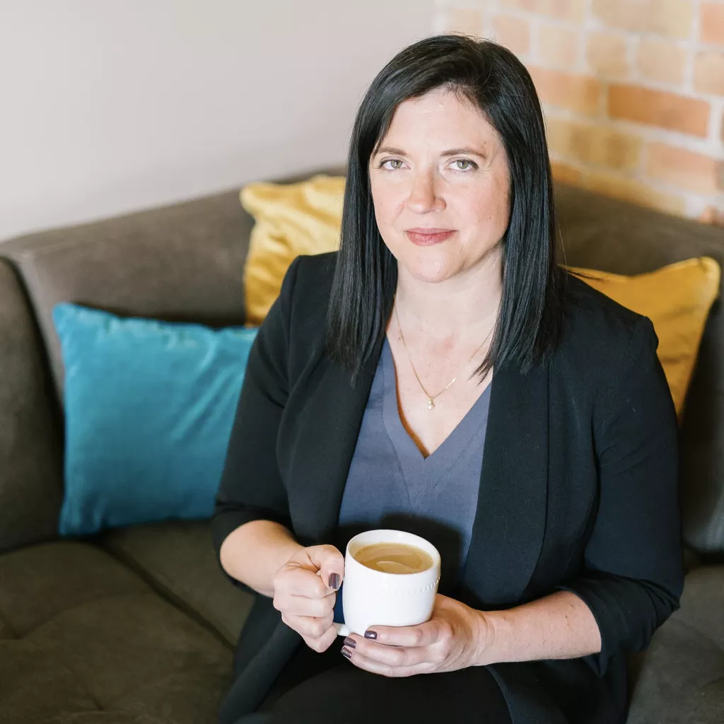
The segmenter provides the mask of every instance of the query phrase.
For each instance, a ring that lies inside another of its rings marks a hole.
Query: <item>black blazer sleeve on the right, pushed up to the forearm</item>
[[[584,570],[560,586],[583,599],[598,623],[602,650],[586,657],[598,675],[612,657],[647,647],[683,589],[678,426],[657,345],[641,317],[626,365],[599,397],[597,512]]]

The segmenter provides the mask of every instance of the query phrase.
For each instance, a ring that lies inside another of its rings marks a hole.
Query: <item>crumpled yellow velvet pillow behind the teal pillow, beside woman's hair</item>
[[[339,248],[344,190],[344,177],[324,175],[241,190],[241,205],[256,222],[244,266],[248,325],[261,324],[295,258]]]

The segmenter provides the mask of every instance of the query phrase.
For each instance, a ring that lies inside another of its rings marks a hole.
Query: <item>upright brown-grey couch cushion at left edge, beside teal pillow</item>
[[[0,259],[0,552],[56,537],[62,440],[51,389],[25,292]]]

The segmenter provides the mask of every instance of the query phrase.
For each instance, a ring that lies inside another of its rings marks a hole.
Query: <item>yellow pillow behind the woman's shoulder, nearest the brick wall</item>
[[[576,267],[571,271],[596,277],[583,281],[653,322],[657,354],[681,420],[704,324],[719,294],[719,264],[702,256],[633,277]]]

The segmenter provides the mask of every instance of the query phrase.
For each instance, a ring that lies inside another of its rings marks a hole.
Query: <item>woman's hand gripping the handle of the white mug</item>
[[[344,576],[345,558],[332,545],[300,548],[274,574],[274,608],[316,652],[337,638],[334,602]]]

